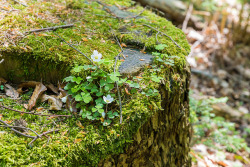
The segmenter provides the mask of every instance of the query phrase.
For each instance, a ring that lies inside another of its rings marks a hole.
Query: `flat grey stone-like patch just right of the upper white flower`
[[[134,74],[153,63],[151,54],[143,54],[138,50],[125,49],[123,55],[125,61],[119,66],[120,74]]]

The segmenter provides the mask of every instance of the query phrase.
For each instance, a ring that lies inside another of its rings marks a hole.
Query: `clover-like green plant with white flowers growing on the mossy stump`
[[[167,45],[160,44],[155,48],[157,50],[163,50]],[[160,72],[164,65],[174,65],[173,58],[177,56],[168,56],[158,52],[153,52],[155,56],[155,63],[153,68],[150,69],[148,81],[160,83],[163,80],[160,77]],[[109,125],[112,119],[118,117],[118,98],[115,94],[115,84],[123,86],[127,84],[131,89],[131,93],[142,93],[146,96],[156,96],[159,91],[153,88],[153,86],[145,86],[144,89],[136,81],[140,81],[139,78],[133,78],[128,80],[127,78],[121,78],[118,72],[106,72],[99,66],[108,66],[110,61],[101,59],[102,55],[98,51],[94,51],[91,55],[91,59],[98,64],[95,65],[83,65],[75,66],[72,72],[75,75],[69,76],[64,79],[67,85],[64,87],[68,91],[68,94],[72,96],[77,102],[76,108],[80,110],[82,118],[88,120],[101,120],[104,126]],[[84,77],[83,77],[84,76]],[[145,76],[146,77],[146,76]],[[148,83],[146,83],[148,84]]]

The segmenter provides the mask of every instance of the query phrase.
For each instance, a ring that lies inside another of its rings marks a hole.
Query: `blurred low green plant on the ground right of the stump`
[[[190,96],[190,122],[194,130],[192,144],[203,141],[203,144],[214,147],[214,143],[219,143],[230,152],[240,149],[250,152],[245,139],[236,131],[235,124],[212,113],[212,104],[226,101],[227,97],[196,100]]]

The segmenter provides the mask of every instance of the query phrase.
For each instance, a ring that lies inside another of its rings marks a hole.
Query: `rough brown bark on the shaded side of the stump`
[[[102,160],[104,167],[183,167],[191,166],[188,92],[190,69],[183,69],[181,80],[171,92],[161,85],[162,108],[140,127],[134,143],[123,154]]]

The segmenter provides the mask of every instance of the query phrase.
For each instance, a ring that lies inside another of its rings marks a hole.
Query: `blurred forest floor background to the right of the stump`
[[[187,35],[193,166],[250,166],[250,27],[246,0],[137,0]]]

